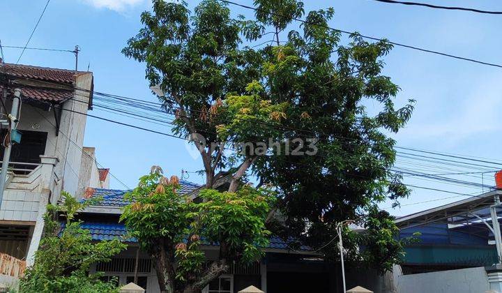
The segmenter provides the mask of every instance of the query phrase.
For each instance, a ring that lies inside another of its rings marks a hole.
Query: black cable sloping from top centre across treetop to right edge
[[[266,11],[266,10],[259,9],[259,8],[254,8],[252,6],[247,6],[247,5],[235,3],[235,2],[232,2],[232,1],[227,1],[227,0],[220,0],[220,1],[222,1],[223,3],[228,3],[228,4],[239,6],[239,7],[242,7],[242,8],[252,9],[254,11],[260,11],[260,12],[263,12],[263,13],[268,13],[268,14],[271,14],[271,15],[279,16],[279,17],[285,17],[284,15],[281,15],[280,13],[273,13],[273,12],[270,12],[270,11]],[[288,18],[291,18],[291,17],[288,17]],[[345,34],[347,34],[349,36],[353,36],[355,34],[355,32],[353,32],[353,31],[344,31],[342,29],[334,29],[333,27],[328,27],[328,26],[326,26],[324,24],[316,24],[316,23],[313,23],[313,22],[307,22],[306,20],[301,20],[300,18],[296,18],[296,17],[292,17],[291,19],[292,20],[296,20],[297,22],[302,22],[304,24],[310,24],[310,25],[315,25],[317,27],[322,27],[324,29],[331,29],[333,31],[340,31],[341,33],[345,33]],[[405,48],[408,48],[408,49],[411,49],[411,50],[417,50],[417,51],[421,51],[421,52],[427,52],[427,53],[431,53],[431,54],[441,55],[441,56],[444,56],[444,57],[450,57],[450,58],[453,58],[453,59],[459,59],[459,60],[464,60],[464,61],[471,61],[471,62],[479,63],[479,64],[482,64],[482,65],[494,66],[494,67],[502,68],[502,65],[496,64],[496,63],[489,63],[489,62],[479,61],[479,60],[476,60],[476,59],[471,59],[471,58],[466,58],[466,57],[459,57],[459,56],[456,56],[456,55],[453,55],[453,54],[443,53],[443,52],[434,51],[434,50],[428,50],[428,49],[424,49],[424,48],[416,47],[416,46],[412,46],[412,45],[405,45],[405,44],[402,44],[402,43],[396,43],[396,42],[393,42],[393,41],[390,41],[390,40],[385,40],[385,39],[382,39],[382,38],[375,38],[375,37],[372,37],[372,36],[365,36],[365,35],[360,34],[360,33],[356,33],[356,34],[358,36],[361,36],[363,38],[367,38],[369,40],[378,40],[378,41],[385,42],[385,43],[388,43],[388,44],[392,44],[392,45],[395,45],[395,46],[405,47]]]

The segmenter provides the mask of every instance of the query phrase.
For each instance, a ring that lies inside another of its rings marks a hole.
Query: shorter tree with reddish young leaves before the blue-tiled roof
[[[178,178],[160,167],[126,194],[133,202],[121,220],[151,256],[161,292],[200,292],[231,262],[255,262],[268,245],[265,220],[275,199],[269,190],[245,186],[236,193],[204,189],[204,202],[176,193]],[[202,244],[218,243],[220,257],[206,266]]]

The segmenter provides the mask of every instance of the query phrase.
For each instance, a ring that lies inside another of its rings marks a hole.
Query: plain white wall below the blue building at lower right
[[[482,293],[489,290],[484,267],[415,273],[394,278],[399,293]]]

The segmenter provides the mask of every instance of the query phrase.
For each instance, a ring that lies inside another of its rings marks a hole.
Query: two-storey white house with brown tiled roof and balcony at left
[[[22,100],[17,115],[22,137],[13,145],[1,202],[0,253],[30,264],[47,204],[56,203],[61,190],[72,194],[82,190],[84,114],[92,106],[93,74],[0,60],[0,81],[2,113],[10,113],[14,89],[21,89]],[[1,139],[5,136],[2,130]]]

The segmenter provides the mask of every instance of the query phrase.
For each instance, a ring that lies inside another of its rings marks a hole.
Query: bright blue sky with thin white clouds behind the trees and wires
[[[251,0],[235,1],[252,5]],[[190,8],[198,2],[188,1]],[[45,3],[45,0],[0,0],[1,44],[24,46]],[[502,3],[494,0],[452,0],[448,5],[502,10]],[[372,0],[305,1],[305,10],[328,7],[335,9],[330,26],[337,29],[502,64],[501,15],[434,10]],[[252,17],[252,12],[244,8],[229,8],[233,15]],[[149,0],[52,0],[29,47],[73,50],[79,45],[79,70],[86,70],[89,66],[96,91],[156,101],[144,79],[144,64],[121,54],[128,38],[141,27],[140,13],[150,9]],[[3,54],[6,62],[15,63],[20,50],[3,48]],[[401,89],[397,105],[409,98],[417,100],[411,121],[393,136],[398,146],[502,162],[502,68],[402,47],[395,47],[384,61],[384,73]],[[67,52],[26,50],[20,63],[72,69],[75,58]],[[142,124],[100,110],[93,110],[91,114],[168,131],[162,126]],[[128,188],[135,187],[139,176],[149,172],[151,165],[160,165],[165,174],[178,176],[182,169],[193,172],[202,167],[201,160],[183,140],[91,117],[87,120],[84,145],[96,147],[98,163],[109,167],[110,172]],[[398,159],[398,166],[436,174],[465,171],[457,165],[437,165],[428,163],[427,158],[411,160],[405,157]],[[202,182],[198,174],[189,174],[187,180]],[[483,180],[480,174],[447,176],[493,184],[493,173],[485,174]],[[381,204],[381,208],[396,216],[467,198],[457,193],[479,194],[483,191],[482,188],[466,188],[423,178],[406,177],[404,180],[409,185],[450,190],[452,193],[413,188],[409,198],[401,200],[400,208],[390,209],[390,202]],[[111,188],[126,187],[112,178]]]

